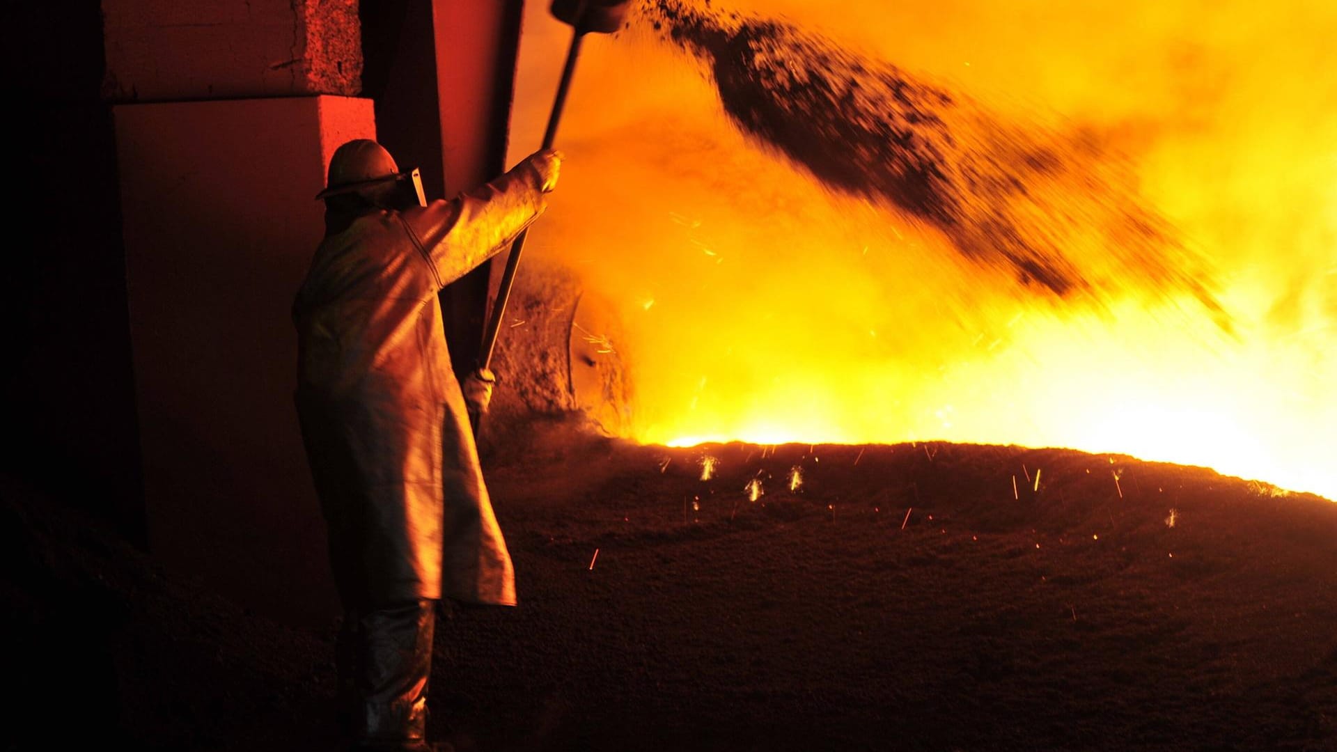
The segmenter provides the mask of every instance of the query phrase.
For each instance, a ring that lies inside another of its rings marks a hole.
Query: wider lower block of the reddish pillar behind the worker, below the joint
[[[334,616],[291,393],[293,296],[324,233],[325,165],[373,138],[341,96],[112,110],[148,545],[270,616]]]

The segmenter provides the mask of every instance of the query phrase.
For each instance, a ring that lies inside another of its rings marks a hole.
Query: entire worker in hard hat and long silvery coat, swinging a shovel
[[[483,483],[437,293],[491,258],[545,206],[560,153],[427,202],[417,170],[374,140],[334,151],[325,238],[293,304],[297,413],[344,609],[341,707],[357,749],[431,749],[427,690],[443,598],[515,605],[515,575]]]

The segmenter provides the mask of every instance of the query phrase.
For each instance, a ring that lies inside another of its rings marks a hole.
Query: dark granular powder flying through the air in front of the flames
[[[703,62],[729,118],[824,185],[941,230],[967,258],[1070,298],[1189,292],[1202,264],[1090,138],[1019,124],[792,24],[644,0],[644,21]]]

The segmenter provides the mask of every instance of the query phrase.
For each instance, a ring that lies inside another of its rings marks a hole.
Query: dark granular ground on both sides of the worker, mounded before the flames
[[[940,443],[559,435],[488,474],[521,606],[439,626],[432,728],[461,751],[1337,749],[1313,495]],[[5,749],[333,748],[333,624],[246,613],[4,480]]]

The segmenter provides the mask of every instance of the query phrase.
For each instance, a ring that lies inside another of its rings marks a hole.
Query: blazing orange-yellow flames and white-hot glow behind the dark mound
[[[727,5],[1124,155],[1231,326],[1193,292],[1142,294],[1161,281],[1136,274],[1102,268],[1084,305],[963,261],[943,231],[746,138],[707,72],[634,15],[587,37],[535,227],[535,253],[623,317],[631,438],[1070,447],[1337,499],[1337,7]],[[539,142],[568,41],[531,4],[515,159]]]

